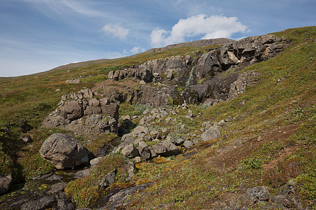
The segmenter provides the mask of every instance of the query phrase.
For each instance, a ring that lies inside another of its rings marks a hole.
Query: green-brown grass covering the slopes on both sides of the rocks
[[[207,120],[218,122],[231,116],[232,120],[222,129],[223,139],[213,142],[213,146],[195,148],[199,153],[189,159],[177,157],[164,165],[149,162],[138,165],[137,183],[154,181],[154,185],[145,193],[131,197],[133,208],[166,204],[171,209],[208,208],[219,198],[225,200],[249,186],[266,185],[272,193],[277,192],[289,179],[298,182],[305,204],[315,202],[312,183],[315,183],[316,27],[288,29],[275,35],[291,39],[291,47],[268,62],[244,69],[261,73],[254,87],[210,109],[190,107],[203,113],[195,122],[183,122],[190,130],[199,130]],[[51,169],[39,158],[38,151],[52,132],[40,129],[39,123],[55,109],[62,94],[92,87],[104,80],[109,71],[121,66],[196,50],[203,48],[171,49],[70,71],[0,78],[3,95],[0,97],[0,174],[13,173],[24,179]],[[82,79],[81,84],[65,83],[67,78],[90,75],[93,77]],[[58,88],[61,91],[55,92]],[[246,104],[239,105],[243,101]],[[33,147],[17,140],[25,124],[31,127],[28,134],[33,137]],[[256,141],[258,137],[263,140]],[[237,144],[241,140],[242,144]],[[282,147],[286,153],[280,151]],[[18,160],[15,160],[16,152],[20,154]]]

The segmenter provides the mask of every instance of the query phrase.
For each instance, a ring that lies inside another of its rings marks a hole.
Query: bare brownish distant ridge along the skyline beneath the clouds
[[[232,39],[228,39],[228,38],[202,39],[202,40],[198,40],[198,41],[190,41],[190,42],[185,42],[185,43],[177,43],[177,44],[173,44],[173,45],[167,45],[166,47],[163,47],[163,48],[152,48],[152,49],[147,50],[145,52],[140,52],[136,55],[141,55],[141,54],[145,54],[145,53],[153,53],[153,52],[162,52],[164,50],[169,50],[172,48],[203,47],[203,46],[208,46],[208,45],[225,45],[225,44],[232,43],[232,42],[235,42],[235,41]],[[134,57],[136,55],[130,55],[127,57]],[[113,59],[95,59],[95,60],[89,60],[89,61],[85,61],[85,62],[65,64],[62,66],[55,67],[54,69],[51,69],[49,71],[57,71],[57,70],[62,70],[62,69],[74,69],[74,68],[78,68],[78,67],[104,63],[104,62],[107,62],[110,60],[113,60]]]

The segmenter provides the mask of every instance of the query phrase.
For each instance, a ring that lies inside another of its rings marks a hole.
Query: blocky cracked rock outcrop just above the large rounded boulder
[[[116,132],[119,102],[110,98],[94,97],[89,89],[62,96],[58,108],[44,119],[44,127],[62,127],[76,134]]]

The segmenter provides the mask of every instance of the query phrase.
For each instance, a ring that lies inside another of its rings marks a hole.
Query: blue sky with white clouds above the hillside
[[[0,0],[0,77],[316,23],[316,0]]]

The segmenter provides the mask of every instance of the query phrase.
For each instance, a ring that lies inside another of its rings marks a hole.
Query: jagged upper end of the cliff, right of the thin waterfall
[[[270,34],[243,38],[235,43],[224,45],[219,50],[206,52],[197,63],[196,80],[212,78],[218,73],[232,68],[249,66],[268,60],[287,47],[285,38]]]

